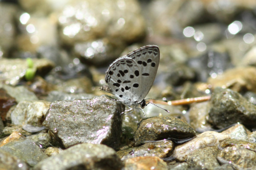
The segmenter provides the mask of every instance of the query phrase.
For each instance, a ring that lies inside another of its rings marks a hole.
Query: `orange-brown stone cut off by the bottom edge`
[[[140,156],[136,158],[126,159],[124,162],[125,170],[143,170],[143,169],[163,169],[167,170],[167,164],[158,157]]]

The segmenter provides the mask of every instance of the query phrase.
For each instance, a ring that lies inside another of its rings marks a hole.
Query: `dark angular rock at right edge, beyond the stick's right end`
[[[209,122],[225,128],[234,123],[255,127],[256,107],[241,94],[230,89],[216,88],[210,99]]]

